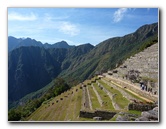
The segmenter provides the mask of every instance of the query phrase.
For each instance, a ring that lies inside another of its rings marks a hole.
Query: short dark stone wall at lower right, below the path
[[[152,110],[154,107],[156,107],[155,104],[130,103],[128,110],[148,111]]]

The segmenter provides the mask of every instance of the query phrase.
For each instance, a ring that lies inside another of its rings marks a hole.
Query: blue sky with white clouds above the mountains
[[[8,36],[42,43],[98,43],[158,22],[158,8],[8,8]]]

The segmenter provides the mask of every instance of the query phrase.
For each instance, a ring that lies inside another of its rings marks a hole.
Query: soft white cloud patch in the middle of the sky
[[[70,22],[61,22],[59,31],[70,36],[76,36],[80,32],[78,27]]]

